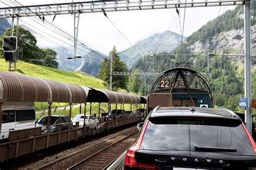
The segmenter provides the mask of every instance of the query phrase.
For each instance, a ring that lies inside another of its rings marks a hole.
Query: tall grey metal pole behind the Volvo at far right
[[[250,1],[245,2],[244,6],[244,25],[245,25],[245,97],[247,98],[248,108],[245,108],[246,127],[252,133],[252,108],[251,108],[251,16]]]

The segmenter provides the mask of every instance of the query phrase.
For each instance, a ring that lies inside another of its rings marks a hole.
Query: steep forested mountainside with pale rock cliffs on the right
[[[256,4],[251,1],[251,54],[252,80],[256,80]],[[165,54],[166,52],[160,52]],[[198,31],[186,38],[182,49],[180,45],[169,52],[177,54],[177,58],[154,58],[146,55],[139,59],[134,68],[140,71],[163,71],[175,67],[174,62],[191,62],[192,69],[207,72],[207,59],[201,55],[179,54],[244,54],[244,9],[237,6],[223,15],[210,20]],[[238,108],[237,102],[243,96],[244,57],[242,56],[211,56],[210,83],[215,95],[215,104],[231,110],[244,111]],[[147,77],[147,85],[154,77]],[[252,98],[256,97],[256,83],[252,81]],[[256,114],[256,109],[253,110]]]

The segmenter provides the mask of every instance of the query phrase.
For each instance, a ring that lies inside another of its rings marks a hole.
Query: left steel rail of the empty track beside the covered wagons
[[[136,129],[136,128],[134,128],[134,129]],[[48,162],[48,163],[46,163],[46,164],[43,164],[43,165],[41,165],[41,166],[38,166],[36,169],[44,169],[44,168],[46,168],[46,167],[48,167],[48,166],[50,166],[50,165],[53,165],[53,164],[57,163],[58,161],[61,161],[61,160],[63,160],[63,159],[69,158],[69,157],[72,157],[73,155],[75,155],[75,154],[77,154],[77,153],[83,152],[83,151],[85,151],[85,150],[87,150],[87,149],[89,149],[89,148],[91,148],[91,147],[93,147],[93,146],[96,146],[96,145],[99,145],[99,144],[101,144],[101,143],[104,143],[104,142],[107,141],[107,140],[116,138],[116,137],[118,137],[119,135],[122,135],[122,134],[124,134],[124,133],[134,131],[134,129],[129,130],[129,131],[126,131],[126,132],[123,132],[123,133],[120,133],[120,134],[116,134],[115,136],[110,137],[110,138],[107,138],[107,139],[104,139],[104,140],[102,140],[102,141],[100,141],[100,142],[98,142],[98,143],[96,143],[96,144],[92,144],[92,145],[90,145],[90,146],[87,146],[87,147],[82,148],[81,150],[78,150],[78,151],[72,152],[72,153],[70,153],[70,154],[67,154],[67,155],[65,155],[65,156],[62,157],[62,158],[58,158],[58,159],[52,160],[52,161],[50,161],[50,162]]]

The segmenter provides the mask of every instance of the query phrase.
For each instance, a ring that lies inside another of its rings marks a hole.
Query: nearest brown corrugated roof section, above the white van
[[[0,101],[86,103],[75,84],[0,71]]]

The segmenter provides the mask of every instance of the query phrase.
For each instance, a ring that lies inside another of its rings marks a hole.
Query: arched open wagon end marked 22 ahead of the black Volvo
[[[161,73],[152,82],[147,105],[148,111],[161,107],[214,107],[210,83],[196,70],[172,68]]]

